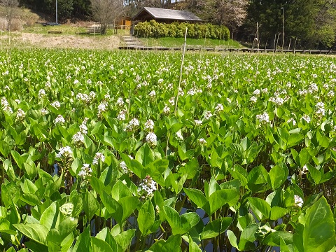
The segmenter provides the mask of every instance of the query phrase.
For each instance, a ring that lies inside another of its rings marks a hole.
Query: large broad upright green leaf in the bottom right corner
[[[336,244],[335,222],[330,206],[321,197],[312,207],[306,210],[302,235],[305,252],[329,251]]]

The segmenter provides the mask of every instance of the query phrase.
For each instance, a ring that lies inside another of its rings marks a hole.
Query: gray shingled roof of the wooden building
[[[197,15],[190,13],[190,11],[187,10],[170,10],[151,7],[144,7],[134,16],[133,20],[136,20],[141,13],[144,13],[144,11],[149,13],[155,19],[202,21]]]

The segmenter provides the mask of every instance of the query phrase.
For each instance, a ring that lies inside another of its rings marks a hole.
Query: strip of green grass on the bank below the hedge
[[[184,38],[139,38],[146,46],[181,47]],[[205,48],[243,48],[244,46],[232,39],[228,41],[211,38],[187,38],[187,47]]]

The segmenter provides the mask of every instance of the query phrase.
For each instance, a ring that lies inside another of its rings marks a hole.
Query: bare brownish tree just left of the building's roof
[[[109,24],[125,13],[123,0],[91,0],[92,15],[101,25],[102,34],[106,34]]]

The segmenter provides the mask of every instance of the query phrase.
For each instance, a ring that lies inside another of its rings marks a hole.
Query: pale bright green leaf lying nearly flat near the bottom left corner
[[[49,230],[45,228],[44,225],[38,223],[31,223],[31,224],[14,224],[13,226],[19,232],[29,237],[33,241],[36,241],[39,244],[48,245],[47,234]]]

